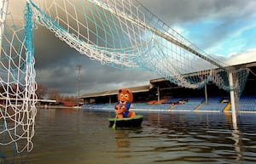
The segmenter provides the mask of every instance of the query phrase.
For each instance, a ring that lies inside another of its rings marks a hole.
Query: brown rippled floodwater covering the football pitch
[[[0,163],[256,163],[254,114],[239,116],[236,130],[224,113],[148,111],[141,128],[113,130],[113,114],[38,109],[33,150]]]

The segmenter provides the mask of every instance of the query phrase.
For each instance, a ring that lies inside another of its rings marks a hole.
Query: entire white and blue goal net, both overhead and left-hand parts
[[[15,143],[18,151],[32,150],[37,99],[32,31],[36,25],[103,65],[152,71],[185,88],[203,88],[213,82],[228,92],[236,88],[241,93],[247,80],[246,69],[235,70],[238,83],[230,88],[223,63],[136,0],[27,0],[22,21],[15,20],[12,11],[6,12],[8,0],[2,2],[0,144]]]

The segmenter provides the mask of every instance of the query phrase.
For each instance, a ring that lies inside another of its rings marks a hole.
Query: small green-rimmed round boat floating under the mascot
[[[116,120],[116,121],[115,121]],[[115,122],[115,127],[141,127],[143,122],[143,116],[138,115],[135,117],[128,118],[108,118],[109,127],[113,127]]]

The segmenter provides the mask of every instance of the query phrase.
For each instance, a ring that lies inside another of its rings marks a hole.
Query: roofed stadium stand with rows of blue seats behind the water
[[[233,65],[236,66],[236,65]],[[239,106],[241,112],[256,112],[256,62],[237,65],[250,69],[246,86],[241,93]],[[130,88],[133,97],[133,110],[166,110],[166,111],[230,111],[230,93],[219,89],[209,82],[207,97],[205,88],[181,88],[165,78],[152,79],[149,85]],[[84,109],[113,110],[117,101],[117,91],[87,93],[80,96],[84,99]],[[157,99],[160,99],[158,102]],[[207,99],[207,102],[205,102]]]

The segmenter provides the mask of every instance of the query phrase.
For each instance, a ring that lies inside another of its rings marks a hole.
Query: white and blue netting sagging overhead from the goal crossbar
[[[214,82],[229,90],[221,62],[135,0],[54,0],[38,5],[32,3],[37,22],[90,59],[115,68],[153,71],[185,88]],[[192,72],[195,76],[185,75]]]

